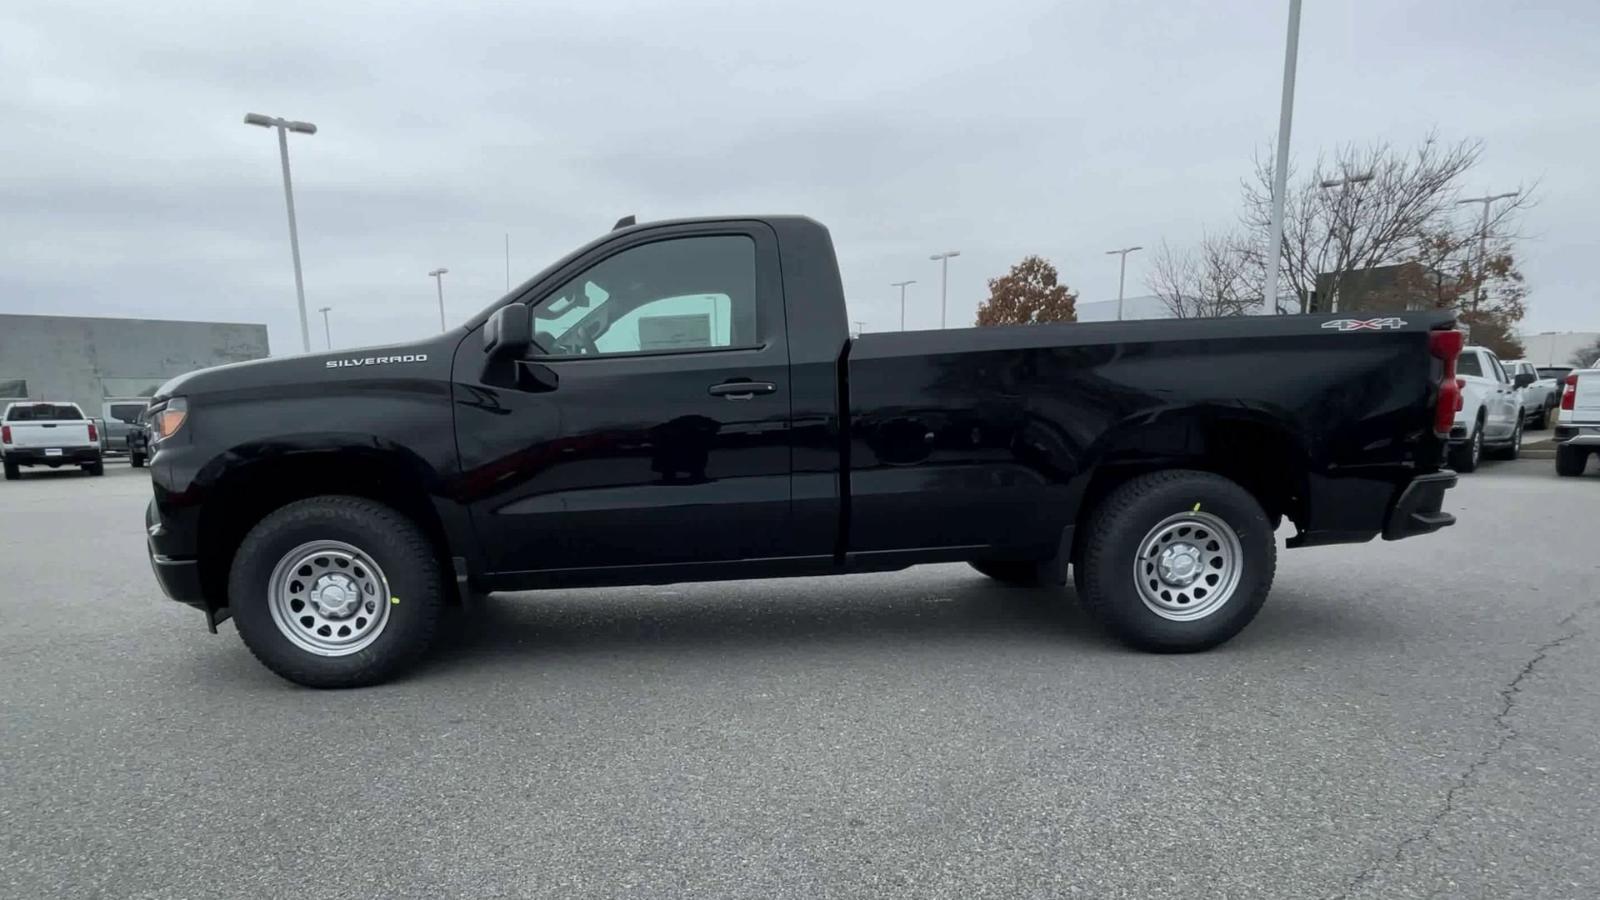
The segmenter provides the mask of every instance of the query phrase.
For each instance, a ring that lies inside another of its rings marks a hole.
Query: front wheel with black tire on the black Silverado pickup
[[[338,589],[320,593],[325,583]],[[227,597],[238,636],[269,669],[306,687],[362,687],[427,652],[446,593],[416,522],[371,500],[314,496],[245,535]],[[318,597],[355,605],[323,615]]]

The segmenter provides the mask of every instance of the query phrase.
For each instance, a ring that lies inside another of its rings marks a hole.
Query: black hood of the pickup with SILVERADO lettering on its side
[[[198,368],[162,384],[150,402],[168,397],[194,397],[221,391],[248,391],[274,384],[307,384],[334,378],[427,378],[443,367],[450,373],[450,359],[461,343],[462,330],[446,331],[437,338],[355,348],[347,351],[298,354],[248,362],[230,362]]]

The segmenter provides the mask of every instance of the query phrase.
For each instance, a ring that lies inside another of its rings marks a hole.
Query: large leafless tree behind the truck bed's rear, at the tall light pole
[[[1403,263],[1448,266],[1475,258],[1480,234],[1490,242],[1509,240],[1515,216],[1533,202],[1531,189],[1493,205],[1486,231],[1478,218],[1458,210],[1462,176],[1482,154],[1480,141],[1445,146],[1427,135],[1411,152],[1378,143],[1365,149],[1347,144],[1331,159],[1318,157],[1309,178],[1294,179],[1285,194],[1280,266],[1294,295],[1293,309],[1309,312],[1312,298],[1323,311],[1339,309],[1339,295],[1355,272]],[[1323,187],[1368,173],[1368,181]],[[1250,243],[1264,248],[1272,163],[1259,155],[1243,200]],[[1486,256],[1480,267],[1485,263]]]

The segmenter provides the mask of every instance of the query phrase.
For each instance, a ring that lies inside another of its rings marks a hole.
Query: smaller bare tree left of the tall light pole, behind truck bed
[[[1174,319],[1245,315],[1261,296],[1258,269],[1237,235],[1206,234],[1189,251],[1163,240],[1146,283]]]

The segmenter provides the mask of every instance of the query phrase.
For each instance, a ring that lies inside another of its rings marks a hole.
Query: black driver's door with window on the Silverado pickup
[[[517,388],[456,354],[462,490],[493,572],[782,556],[789,344],[773,232],[634,232],[534,287]]]

